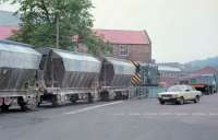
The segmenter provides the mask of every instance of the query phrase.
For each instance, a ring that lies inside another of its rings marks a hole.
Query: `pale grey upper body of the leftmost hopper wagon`
[[[27,45],[0,40],[0,67],[38,69],[41,55]]]

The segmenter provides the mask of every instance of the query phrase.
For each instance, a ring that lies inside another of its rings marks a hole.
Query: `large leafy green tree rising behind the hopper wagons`
[[[1,0],[3,2],[10,0]],[[36,47],[72,49],[73,36],[80,36],[89,52],[101,55],[109,46],[93,34],[93,9],[90,0],[13,0],[21,7],[19,31],[10,38]]]

